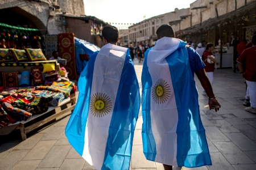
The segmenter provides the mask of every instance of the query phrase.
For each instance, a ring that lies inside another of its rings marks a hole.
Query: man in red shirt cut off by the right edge
[[[256,113],[256,35],[251,38],[253,46],[243,50],[237,58],[237,65],[246,80],[247,88],[249,88],[251,107],[245,108],[245,111]],[[245,64],[246,69],[243,68]]]

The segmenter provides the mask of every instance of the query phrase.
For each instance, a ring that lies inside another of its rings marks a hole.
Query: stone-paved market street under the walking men
[[[141,88],[142,63],[138,63],[137,59],[134,63]],[[245,83],[240,73],[233,73],[232,69],[218,69],[214,72],[213,91],[221,103],[219,112],[204,108],[208,97],[201,95],[203,88],[196,76],[195,80],[199,91],[201,120],[213,165],[193,169],[256,169],[256,114],[246,112],[242,105]],[[93,169],[69,145],[64,133],[68,119],[69,116],[28,135],[25,141],[20,142],[17,135],[9,139],[9,142],[1,143],[0,170]],[[162,164],[144,158],[141,127],[140,112],[130,169],[163,170]]]

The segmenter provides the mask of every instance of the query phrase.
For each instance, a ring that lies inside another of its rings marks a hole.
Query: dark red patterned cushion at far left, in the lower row
[[[2,73],[3,87],[18,87],[18,71],[14,73]]]

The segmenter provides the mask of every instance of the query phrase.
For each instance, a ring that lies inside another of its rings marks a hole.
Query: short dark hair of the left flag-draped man
[[[102,29],[102,37],[106,39],[109,43],[115,43],[118,40],[119,32],[117,27],[112,25],[106,25]]]

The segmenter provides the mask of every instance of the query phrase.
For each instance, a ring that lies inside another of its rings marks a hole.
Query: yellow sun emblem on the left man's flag
[[[90,111],[95,117],[102,117],[109,113],[112,108],[112,102],[109,96],[103,93],[97,93],[90,100]]]

